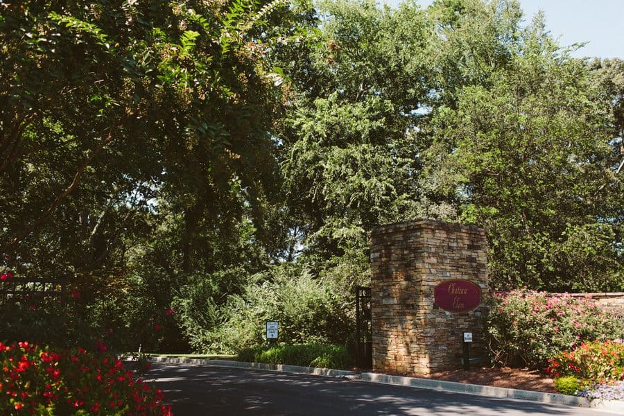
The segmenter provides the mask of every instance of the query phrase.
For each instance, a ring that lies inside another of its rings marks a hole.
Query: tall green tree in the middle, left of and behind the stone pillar
[[[415,3],[318,7],[317,41],[300,62],[277,57],[293,79],[279,135],[286,207],[308,259],[359,257],[374,225],[415,216],[419,162],[405,132],[428,94],[429,28]]]

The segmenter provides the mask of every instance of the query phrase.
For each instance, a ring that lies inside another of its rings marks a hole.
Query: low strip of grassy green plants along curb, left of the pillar
[[[301,344],[243,349],[240,361],[304,367],[346,369],[354,365],[347,349],[340,345]]]

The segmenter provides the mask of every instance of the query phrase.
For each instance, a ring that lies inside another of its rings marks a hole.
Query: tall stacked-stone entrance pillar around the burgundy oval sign
[[[454,313],[434,304],[433,289],[467,279],[488,291],[483,229],[433,220],[376,227],[371,234],[373,370],[430,374],[461,365],[463,332],[471,357],[483,355],[484,306]]]

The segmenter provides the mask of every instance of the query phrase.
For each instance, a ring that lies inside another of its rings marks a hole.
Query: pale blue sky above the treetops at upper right
[[[397,6],[401,0],[382,0]],[[519,0],[530,22],[538,10],[546,14],[546,28],[561,46],[589,42],[576,58],[598,56],[624,59],[624,0]],[[417,0],[423,8],[432,0]]]

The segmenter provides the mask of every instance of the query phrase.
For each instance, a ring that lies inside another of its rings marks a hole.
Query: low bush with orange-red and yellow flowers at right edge
[[[624,379],[624,344],[607,340],[581,343],[570,352],[548,359],[546,372],[551,376],[569,374],[591,383]]]

